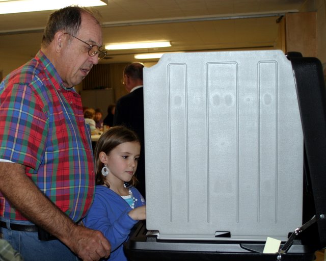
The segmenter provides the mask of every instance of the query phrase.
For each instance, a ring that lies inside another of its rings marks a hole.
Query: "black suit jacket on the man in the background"
[[[143,87],[122,96],[116,104],[113,125],[124,125],[137,133],[141,141],[141,156],[136,171],[136,186],[145,197],[144,96]]]

